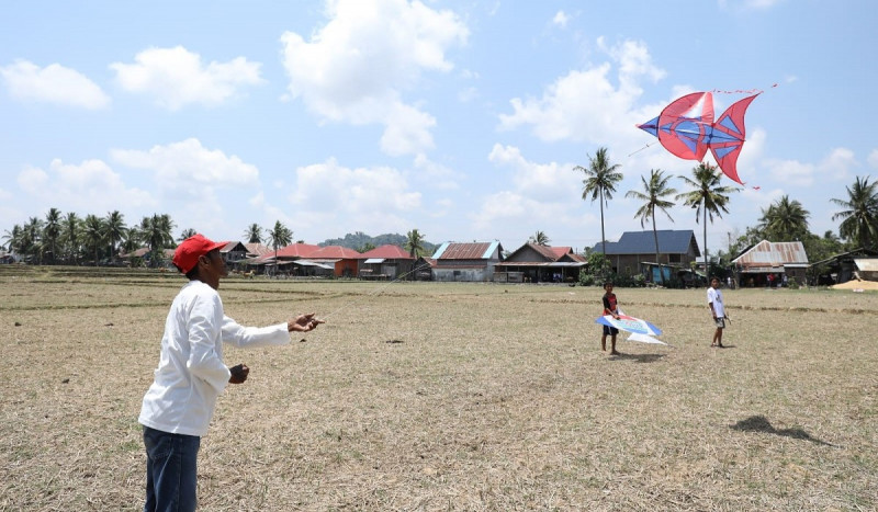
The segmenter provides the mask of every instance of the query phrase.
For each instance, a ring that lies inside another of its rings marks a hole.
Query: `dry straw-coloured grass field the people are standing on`
[[[183,280],[0,269],[0,510],[138,510],[140,399]],[[202,441],[202,510],[876,510],[878,293],[617,288],[673,348],[599,349],[597,287],[228,280],[317,311]]]

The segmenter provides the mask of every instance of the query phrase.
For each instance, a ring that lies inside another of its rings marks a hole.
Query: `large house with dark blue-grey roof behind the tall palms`
[[[660,229],[658,261],[655,261],[653,231],[626,231],[618,242],[607,242],[607,261],[617,274],[635,275],[657,265],[689,269],[701,251],[691,229]],[[594,252],[604,252],[604,243],[595,244]],[[651,272],[650,272],[651,274]]]

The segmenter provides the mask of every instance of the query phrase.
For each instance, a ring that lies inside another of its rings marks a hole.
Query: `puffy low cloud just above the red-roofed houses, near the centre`
[[[296,169],[290,201],[297,225],[403,230],[406,214],[420,207],[421,195],[408,189],[405,175],[396,169],[350,169],[329,159]]]

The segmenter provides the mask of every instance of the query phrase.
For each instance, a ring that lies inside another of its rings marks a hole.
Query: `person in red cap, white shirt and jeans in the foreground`
[[[216,293],[228,275],[219,248],[201,235],[185,239],[173,264],[189,278],[171,304],[161,338],[155,380],[144,396],[138,421],[146,446],[145,511],[195,510],[196,459],[216,398],[247,379],[243,364],[227,368],[223,342],[236,346],[290,343],[290,332],[307,332],[323,320],[300,315],[275,326],[243,327],[223,312]]]

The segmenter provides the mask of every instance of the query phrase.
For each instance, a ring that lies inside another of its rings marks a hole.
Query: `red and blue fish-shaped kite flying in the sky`
[[[701,161],[710,149],[727,177],[744,184],[738,178],[738,156],[744,146],[744,113],[759,95],[744,98],[732,104],[713,121],[713,95],[693,92],[667,105],[658,117],[638,125],[638,128],[658,137],[665,149],[686,160]],[[701,103],[701,115],[693,112]]]

